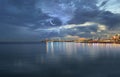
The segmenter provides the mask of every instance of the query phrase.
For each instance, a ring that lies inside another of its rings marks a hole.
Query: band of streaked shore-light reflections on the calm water
[[[95,58],[99,56],[115,56],[120,54],[119,44],[74,43],[74,42],[47,42],[48,55],[83,56]],[[115,53],[114,53],[114,52]]]

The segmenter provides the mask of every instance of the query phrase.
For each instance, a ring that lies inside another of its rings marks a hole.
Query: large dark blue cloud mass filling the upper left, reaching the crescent
[[[50,17],[42,13],[41,9],[36,8],[38,0],[1,0],[0,3],[0,23],[15,26],[25,26],[31,29],[53,26],[53,23],[61,24],[58,18]],[[54,25],[54,26],[56,26]]]

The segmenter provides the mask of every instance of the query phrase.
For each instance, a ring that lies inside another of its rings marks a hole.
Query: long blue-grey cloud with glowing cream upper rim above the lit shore
[[[97,35],[98,33],[104,34],[107,31],[107,27],[103,24],[95,23],[95,22],[86,22],[83,24],[70,24],[58,27],[51,27],[47,29],[36,29],[36,32],[46,32],[54,37],[58,36],[84,36],[84,37],[91,37],[93,35]],[[54,34],[55,35],[54,35]]]

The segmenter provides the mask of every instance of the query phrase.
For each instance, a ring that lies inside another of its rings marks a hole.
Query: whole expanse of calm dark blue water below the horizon
[[[0,77],[120,77],[120,45],[0,44]]]

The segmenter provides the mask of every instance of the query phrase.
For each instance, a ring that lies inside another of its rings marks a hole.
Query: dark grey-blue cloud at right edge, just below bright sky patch
[[[96,22],[105,24],[110,29],[117,28],[120,24],[120,14],[113,14],[109,11],[102,12],[95,18]]]

